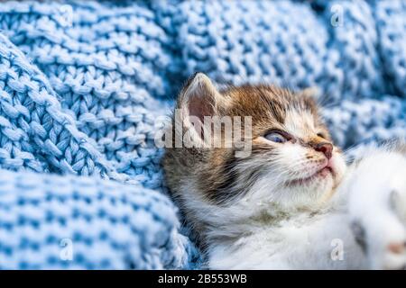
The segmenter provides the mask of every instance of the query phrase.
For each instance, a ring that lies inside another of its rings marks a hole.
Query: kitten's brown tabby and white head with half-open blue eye
[[[174,137],[192,130],[189,138],[195,143],[204,142],[204,133],[196,130],[204,127],[204,116],[240,116],[244,123],[251,116],[252,121],[251,133],[246,127],[242,131],[245,143],[252,144],[246,157],[236,157],[241,148],[226,147],[225,140],[219,148],[167,149],[167,181],[187,213],[203,211],[207,219],[213,213],[250,217],[276,206],[309,208],[328,199],[344,173],[341,152],[306,93],[271,85],[218,91],[207,76],[197,74],[182,90],[177,108],[183,131],[174,128]],[[224,138],[225,130],[214,137]]]

